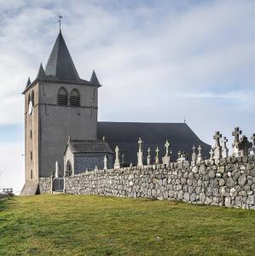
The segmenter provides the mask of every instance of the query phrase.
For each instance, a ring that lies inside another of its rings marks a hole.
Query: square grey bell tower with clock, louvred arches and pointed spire
[[[68,137],[96,140],[100,86],[95,71],[90,80],[79,78],[60,30],[45,69],[41,64],[37,78],[28,79],[23,91],[26,183],[21,195],[35,194],[32,186],[51,175],[56,160],[63,175]]]

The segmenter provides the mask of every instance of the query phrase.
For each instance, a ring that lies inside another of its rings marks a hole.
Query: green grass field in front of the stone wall
[[[0,255],[255,255],[255,211],[89,195],[0,201]]]

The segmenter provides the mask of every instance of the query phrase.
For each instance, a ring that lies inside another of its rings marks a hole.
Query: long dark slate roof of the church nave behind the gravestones
[[[171,143],[172,158],[177,160],[177,152],[185,151],[189,159],[192,147],[201,145],[203,156],[208,156],[211,146],[203,143],[185,123],[125,123],[125,122],[98,122],[98,138],[105,137],[113,152],[116,145],[121,154],[125,154],[125,162],[136,164],[138,138],[143,141],[143,158],[146,162],[147,149],[151,149],[152,159],[155,149],[159,147],[159,156],[165,155],[165,140]]]

